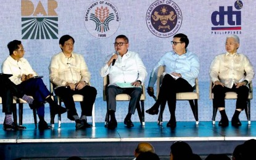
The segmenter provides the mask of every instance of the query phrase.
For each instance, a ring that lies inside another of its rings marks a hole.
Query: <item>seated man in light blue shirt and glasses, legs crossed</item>
[[[199,74],[199,59],[196,54],[190,52],[187,47],[189,39],[185,34],[179,33],[173,36],[171,45],[173,50],[167,52],[160,58],[157,65],[151,72],[147,92],[154,95],[154,84],[157,81],[157,72],[159,66],[165,66],[165,76],[160,86],[157,102],[146,111],[149,114],[158,114],[159,106],[168,102],[170,111],[170,121],[167,127],[174,129],[176,127],[176,93],[192,92],[195,86],[195,79]]]

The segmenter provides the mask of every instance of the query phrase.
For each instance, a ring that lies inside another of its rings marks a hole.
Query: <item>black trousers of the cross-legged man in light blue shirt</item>
[[[178,78],[175,80],[170,74],[166,74],[163,77],[157,102],[162,105],[167,102],[170,114],[175,116],[176,93],[192,92],[193,90],[193,87],[185,79]]]

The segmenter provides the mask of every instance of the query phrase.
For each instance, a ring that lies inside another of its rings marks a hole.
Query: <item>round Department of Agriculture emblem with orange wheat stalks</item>
[[[108,38],[118,29],[120,15],[109,1],[95,1],[85,11],[85,27],[96,38]]]

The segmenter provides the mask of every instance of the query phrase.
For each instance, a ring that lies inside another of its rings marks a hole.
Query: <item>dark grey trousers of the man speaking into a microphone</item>
[[[117,102],[115,100],[115,97],[118,94],[128,94],[131,97],[128,107],[128,113],[134,114],[136,110],[136,105],[139,103],[139,100],[141,99],[141,92],[141,87],[121,88],[114,85],[108,86],[106,90],[107,110],[116,110]]]

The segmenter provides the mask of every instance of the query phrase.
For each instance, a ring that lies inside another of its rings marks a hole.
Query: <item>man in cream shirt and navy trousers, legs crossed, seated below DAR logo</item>
[[[25,94],[33,96],[38,102],[47,101],[50,105],[51,114],[62,114],[67,110],[55,103],[51,98],[51,93],[45,86],[41,78],[34,78],[38,74],[31,68],[30,63],[23,58],[25,50],[22,42],[14,40],[7,45],[10,55],[2,63],[2,73],[12,74],[10,81],[23,90]],[[36,108],[39,122],[38,129],[51,129],[44,121],[44,103]]]

